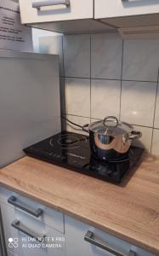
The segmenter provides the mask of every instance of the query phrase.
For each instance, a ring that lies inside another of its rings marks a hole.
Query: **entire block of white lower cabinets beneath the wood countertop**
[[[8,256],[156,256],[8,189],[0,188],[0,202]]]

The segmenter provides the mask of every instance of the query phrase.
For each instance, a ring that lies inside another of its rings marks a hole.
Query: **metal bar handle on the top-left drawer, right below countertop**
[[[31,209],[26,208],[25,206],[23,206],[20,202],[17,201],[17,198],[13,195],[11,197],[9,197],[8,199],[9,204],[13,205],[14,207],[18,207],[21,210],[30,213],[31,215],[33,215],[36,218],[39,218],[40,216],[42,216],[43,214],[43,210],[38,208],[35,212],[33,212]]]

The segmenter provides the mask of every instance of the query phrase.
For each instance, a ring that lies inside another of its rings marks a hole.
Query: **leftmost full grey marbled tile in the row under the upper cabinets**
[[[90,35],[64,36],[65,77],[90,78]]]

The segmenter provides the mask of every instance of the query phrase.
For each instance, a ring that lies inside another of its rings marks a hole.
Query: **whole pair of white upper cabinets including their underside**
[[[159,0],[20,0],[20,15],[23,24],[65,34],[136,26],[152,34],[150,26],[159,25]]]

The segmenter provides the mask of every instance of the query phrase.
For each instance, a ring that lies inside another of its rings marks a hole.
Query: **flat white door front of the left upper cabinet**
[[[22,23],[39,23],[91,19],[94,14],[93,1],[94,0],[20,0],[21,21]],[[69,4],[67,5],[67,3]]]

